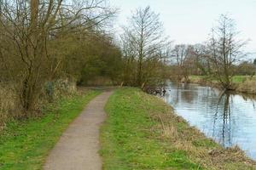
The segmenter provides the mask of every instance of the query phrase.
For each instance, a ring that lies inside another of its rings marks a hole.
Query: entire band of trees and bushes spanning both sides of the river
[[[33,115],[76,85],[150,91],[169,78],[188,82],[189,75],[204,75],[229,89],[234,75],[255,74],[255,60],[239,60],[247,41],[237,39],[227,15],[206,43],[175,45],[150,7],[137,8],[114,35],[117,12],[105,0],[1,1],[0,115]]]

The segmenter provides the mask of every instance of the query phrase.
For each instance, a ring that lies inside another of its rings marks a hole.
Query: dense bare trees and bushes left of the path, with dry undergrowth
[[[0,123],[37,113],[75,84],[117,82],[121,54],[106,29],[115,14],[104,0],[1,1]]]

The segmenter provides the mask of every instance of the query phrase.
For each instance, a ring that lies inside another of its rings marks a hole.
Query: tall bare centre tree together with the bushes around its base
[[[152,88],[169,78],[166,59],[171,46],[164,35],[159,14],[150,7],[137,8],[131,15],[121,36],[126,85]]]

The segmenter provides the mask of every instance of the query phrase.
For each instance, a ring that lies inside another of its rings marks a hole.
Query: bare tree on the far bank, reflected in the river
[[[209,51],[214,72],[212,74],[221,87],[230,89],[232,77],[235,74],[235,65],[246,54],[242,48],[247,41],[238,39],[236,23],[227,15],[222,14],[218,20],[218,26],[212,28],[212,38],[209,42]]]

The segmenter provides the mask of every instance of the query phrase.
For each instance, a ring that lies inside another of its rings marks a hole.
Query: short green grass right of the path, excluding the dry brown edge
[[[159,140],[157,125],[147,116],[137,89],[118,90],[109,99],[108,122],[102,127],[104,169],[197,169],[183,150],[172,150]],[[152,109],[151,108],[151,109]]]

